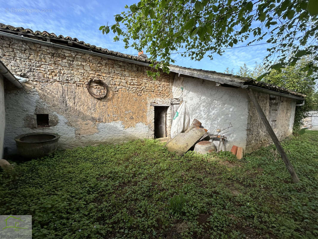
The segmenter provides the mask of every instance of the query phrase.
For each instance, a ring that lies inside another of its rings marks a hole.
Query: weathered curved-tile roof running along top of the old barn
[[[95,45],[91,45],[89,43],[85,43],[84,41],[79,41],[77,38],[72,38],[70,36],[64,37],[62,35],[56,35],[54,33],[48,33],[46,31],[40,32],[40,31],[33,31],[29,28],[24,29],[23,27],[14,27],[11,25],[5,25],[3,23],[0,23],[0,31],[1,32],[7,32],[7,33],[11,33],[11,34],[23,34],[24,37],[28,37],[31,36],[32,38],[34,38],[34,36],[38,37],[38,40],[43,40],[45,41],[46,38],[50,39],[51,41],[64,41],[65,42],[69,42],[69,43],[75,43],[76,46],[73,46],[74,48],[79,48],[79,49],[89,49],[91,51],[94,52],[100,52],[102,54],[106,54],[106,55],[111,55],[111,56],[117,56],[120,58],[124,58],[124,59],[130,59],[130,60],[134,60],[136,62],[144,62],[144,63],[152,63],[150,62],[144,54],[142,54],[141,56],[134,56],[134,55],[130,55],[130,54],[123,54],[121,52],[115,52],[115,51],[111,51],[108,50],[106,48],[101,48],[101,47],[96,47]],[[260,87],[263,89],[269,89],[269,90],[273,90],[273,91],[277,91],[277,92],[282,92],[285,94],[290,94],[290,95],[294,95],[297,97],[301,97],[304,98],[306,97],[306,95],[295,92],[295,91],[290,91],[284,87],[279,87],[273,84],[268,84],[265,82],[261,82],[261,81],[256,81],[252,78],[248,78],[248,77],[242,77],[242,76],[236,76],[236,75],[232,75],[232,74],[225,74],[225,73],[220,73],[220,72],[216,72],[216,71],[211,71],[211,70],[203,70],[203,69],[192,69],[192,68],[187,68],[187,67],[181,67],[181,66],[176,66],[176,65],[171,65],[174,67],[178,67],[181,69],[190,69],[190,70],[194,70],[197,72],[206,72],[206,73],[212,73],[212,74],[218,74],[218,75],[223,75],[223,76],[233,76],[236,78],[240,78],[243,81],[245,81],[243,84],[246,85],[252,85],[252,86],[256,86],[256,87]]]

